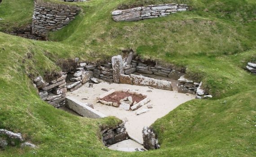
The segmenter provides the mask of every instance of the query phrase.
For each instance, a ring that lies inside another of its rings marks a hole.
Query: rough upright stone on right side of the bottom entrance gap
[[[149,127],[143,127],[142,137],[143,137],[143,146],[147,150],[160,148],[156,134]]]

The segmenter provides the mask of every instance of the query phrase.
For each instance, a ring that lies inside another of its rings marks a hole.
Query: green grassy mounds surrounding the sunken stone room
[[[0,128],[21,132],[37,149],[7,147],[1,157],[255,157],[256,76],[243,68],[256,58],[255,0],[90,0],[74,21],[34,41],[5,34],[31,23],[33,0],[0,3]],[[192,11],[137,22],[115,22],[111,11],[183,3]],[[132,48],[143,59],[185,66],[211,100],[192,100],[152,127],[161,148],[125,153],[107,149],[102,127],[115,117],[88,119],[43,102],[35,76],[61,71],[68,59],[104,62]]]

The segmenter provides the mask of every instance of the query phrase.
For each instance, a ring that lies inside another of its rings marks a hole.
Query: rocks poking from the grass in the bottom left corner
[[[0,129],[0,148],[1,149],[5,149],[5,147],[8,145],[17,146],[19,144],[21,144],[21,147],[26,147],[26,146],[31,148],[36,147],[34,144],[24,142],[24,139],[21,133],[14,133],[5,129]]]

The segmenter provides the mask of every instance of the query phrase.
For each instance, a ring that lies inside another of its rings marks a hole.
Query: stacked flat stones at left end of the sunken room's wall
[[[42,100],[48,102],[54,107],[60,107],[65,104],[66,97],[66,72],[61,73],[62,76],[49,83],[45,82],[41,76],[34,79],[39,96]]]

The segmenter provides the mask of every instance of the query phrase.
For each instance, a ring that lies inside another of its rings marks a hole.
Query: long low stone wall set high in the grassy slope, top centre
[[[127,10],[115,10],[112,12],[114,21],[139,21],[149,18],[165,17],[171,13],[186,11],[186,4],[159,4],[147,7],[137,7]]]

